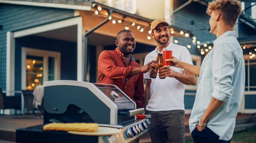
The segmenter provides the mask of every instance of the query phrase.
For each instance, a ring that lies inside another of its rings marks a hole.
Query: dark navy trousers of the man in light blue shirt
[[[220,140],[220,136],[211,131],[208,127],[204,130],[198,131],[197,128],[191,133],[194,143],[230,143],[229,141]]]

